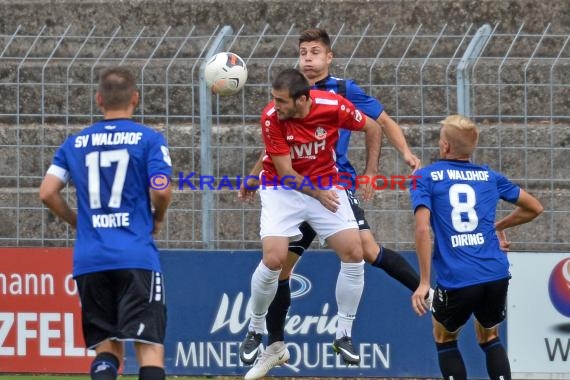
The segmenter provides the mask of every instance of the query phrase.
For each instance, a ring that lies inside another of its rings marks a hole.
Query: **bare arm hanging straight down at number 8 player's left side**
[[[431,276],[431,212],[426,207],[418,207],[415,212],[416,220],[416,255],[420,267],[420,285],[412,295],[412,308],[417,315],[424,315],[428,311],[426,295],[430,289]]]

